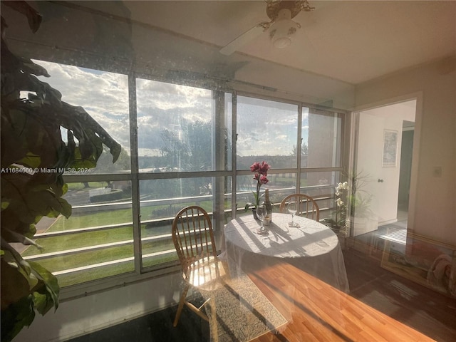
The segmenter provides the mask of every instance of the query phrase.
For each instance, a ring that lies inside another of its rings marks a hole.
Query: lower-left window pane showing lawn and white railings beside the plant
[[[43,252],[28,247],[24,259],[39,261],[60,286],[134,271],[130,190],[128,181],[69,183],[64,198],[71,217],[42,219],[37,242]]]

